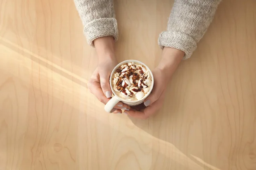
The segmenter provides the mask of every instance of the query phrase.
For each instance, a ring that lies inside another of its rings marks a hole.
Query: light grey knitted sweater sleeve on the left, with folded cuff
[[[87,42],[99,37],[112,36],[116,41],[118,29],[113,8],[113,0],[74,0],[84,25]]]

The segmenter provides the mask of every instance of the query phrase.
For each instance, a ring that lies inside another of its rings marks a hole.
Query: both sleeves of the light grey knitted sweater
[[[118,29],[113,0],[74,0],[84,25],[88,43],[99,37],[113,36],[116,41]],[[185,52],[189,58],[198,41],[207,31],[221,0],[175,0],[167,30],[159,38],[160,48],[172,47]]]

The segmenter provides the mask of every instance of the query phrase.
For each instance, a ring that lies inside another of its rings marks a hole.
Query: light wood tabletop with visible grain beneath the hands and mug
[[[173,0],[116,0],[119,61],[154,68]],[[72,0],[0,0],[0,170],[256,170],[256,1],[223,0],[148,120],[108,114]]]

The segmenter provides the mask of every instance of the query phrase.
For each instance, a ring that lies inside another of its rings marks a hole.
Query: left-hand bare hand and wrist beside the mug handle
[[[113,37],[101,37],[94,40],[98,54],[99,64],[88,82],[88,88],[97,99],[106,104],[112,96],[109,79],[113,68],[118,64],[114,57]],[[130,106],[119,102],[112,109],[113,113],[122,113],[122,110],[129,110]]]

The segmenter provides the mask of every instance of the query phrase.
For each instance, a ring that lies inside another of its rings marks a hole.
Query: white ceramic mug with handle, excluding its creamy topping
[[[150,76],[151,76],[151,87],[150,87],[150,90],[148,91],[148,93],[140,100],[134,100],[134,101],[129,101],[129,100],[125,100],[125,99],[122,99],[120,98],[118,95],[116,95],[116,91],[114,91],[113,87],[112,87],[112,79],[113,79],[113,75],[116,71],[117,68],[119,68],[119,66],[125,64],[125,63],[129,63],[129,62],[135,62],[135,63],[138,63],[138,64],[141,64],[141,65],[144,65],[145,68],[149,71],[150,73]],[[147,65],[145,65],[143,62],[140,62],[140,61],[137,61],[137,60],[133,60],[133,59],[130,59],[130,60],[125,60],[123,62],[120,62],[118,65],[116,65],[116,67],[113,69],[113,71],[111,72],[111,76],[110,76],[110,79],[109,79],[109,83],[110,83],[110,87],[111,87],[111,91],[113,92],[114,96],[108,101],[108,103],[105,105],[105,111],[108,112],[108,113],[111,113],[111,110],[115,107],[115,105],[118,103],[118,102],[122,102],[122,103],[125,103],[127,105],[130,105],[130,106],[136,106],[136,105],[140,105],[144,100],[145,98],[148,97],[148,95],[151,93],[152,89],[153,89],[153,86],[154,86],[154,77],[153,77],[153,74],[151,72],[151,70],[148,68]]]

